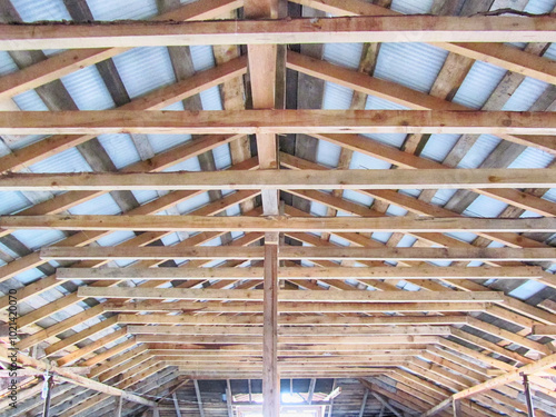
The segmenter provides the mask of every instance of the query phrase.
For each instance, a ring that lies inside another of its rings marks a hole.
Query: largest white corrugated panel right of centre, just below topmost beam
[[[425,43],[383,43],[375,77],[428,92],[448,52]]]

